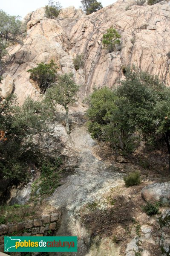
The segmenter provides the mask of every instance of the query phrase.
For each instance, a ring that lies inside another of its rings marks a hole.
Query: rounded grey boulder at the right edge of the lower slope
[[[170,206],[170,182],[145,186],[141,190],[141,195],[147,202],[160,201],[162,206]]]

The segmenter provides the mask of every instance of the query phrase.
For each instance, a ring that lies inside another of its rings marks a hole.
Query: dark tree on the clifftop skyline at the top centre
[[[98,2],[97,0],[81,0],[82,6],[80,6],[84,12],[86,12],[86,15],[89,15],[93,12],[97,12],[101,8],[103,8],[101,2]]]

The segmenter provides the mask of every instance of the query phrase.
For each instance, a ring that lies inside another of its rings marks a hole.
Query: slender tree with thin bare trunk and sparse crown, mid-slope
[[[61,105],[64,107],[66,132],[69,134],[69,104],[75,102],[75,96],[79,90],[79,86],[73,81],[73,74],[64,74],[58,76],[58,82],[52,84],[50,88],[46,90],[46,100],[51,105]]]

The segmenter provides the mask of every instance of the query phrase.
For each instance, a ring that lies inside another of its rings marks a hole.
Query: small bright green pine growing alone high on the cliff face
[[[112,52],[115,49],[115,45],[119,45],[121,43],[119,38],[121,38],[121,35],[111,27],[107,29],[107,33],[103,35],[102,44],[109,52]]]

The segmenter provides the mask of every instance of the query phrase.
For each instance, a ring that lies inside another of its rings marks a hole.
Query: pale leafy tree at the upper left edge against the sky
[[[14,44],[19,41],[22,31],[20,16],[11,16],[0,10],[0,38]]]

